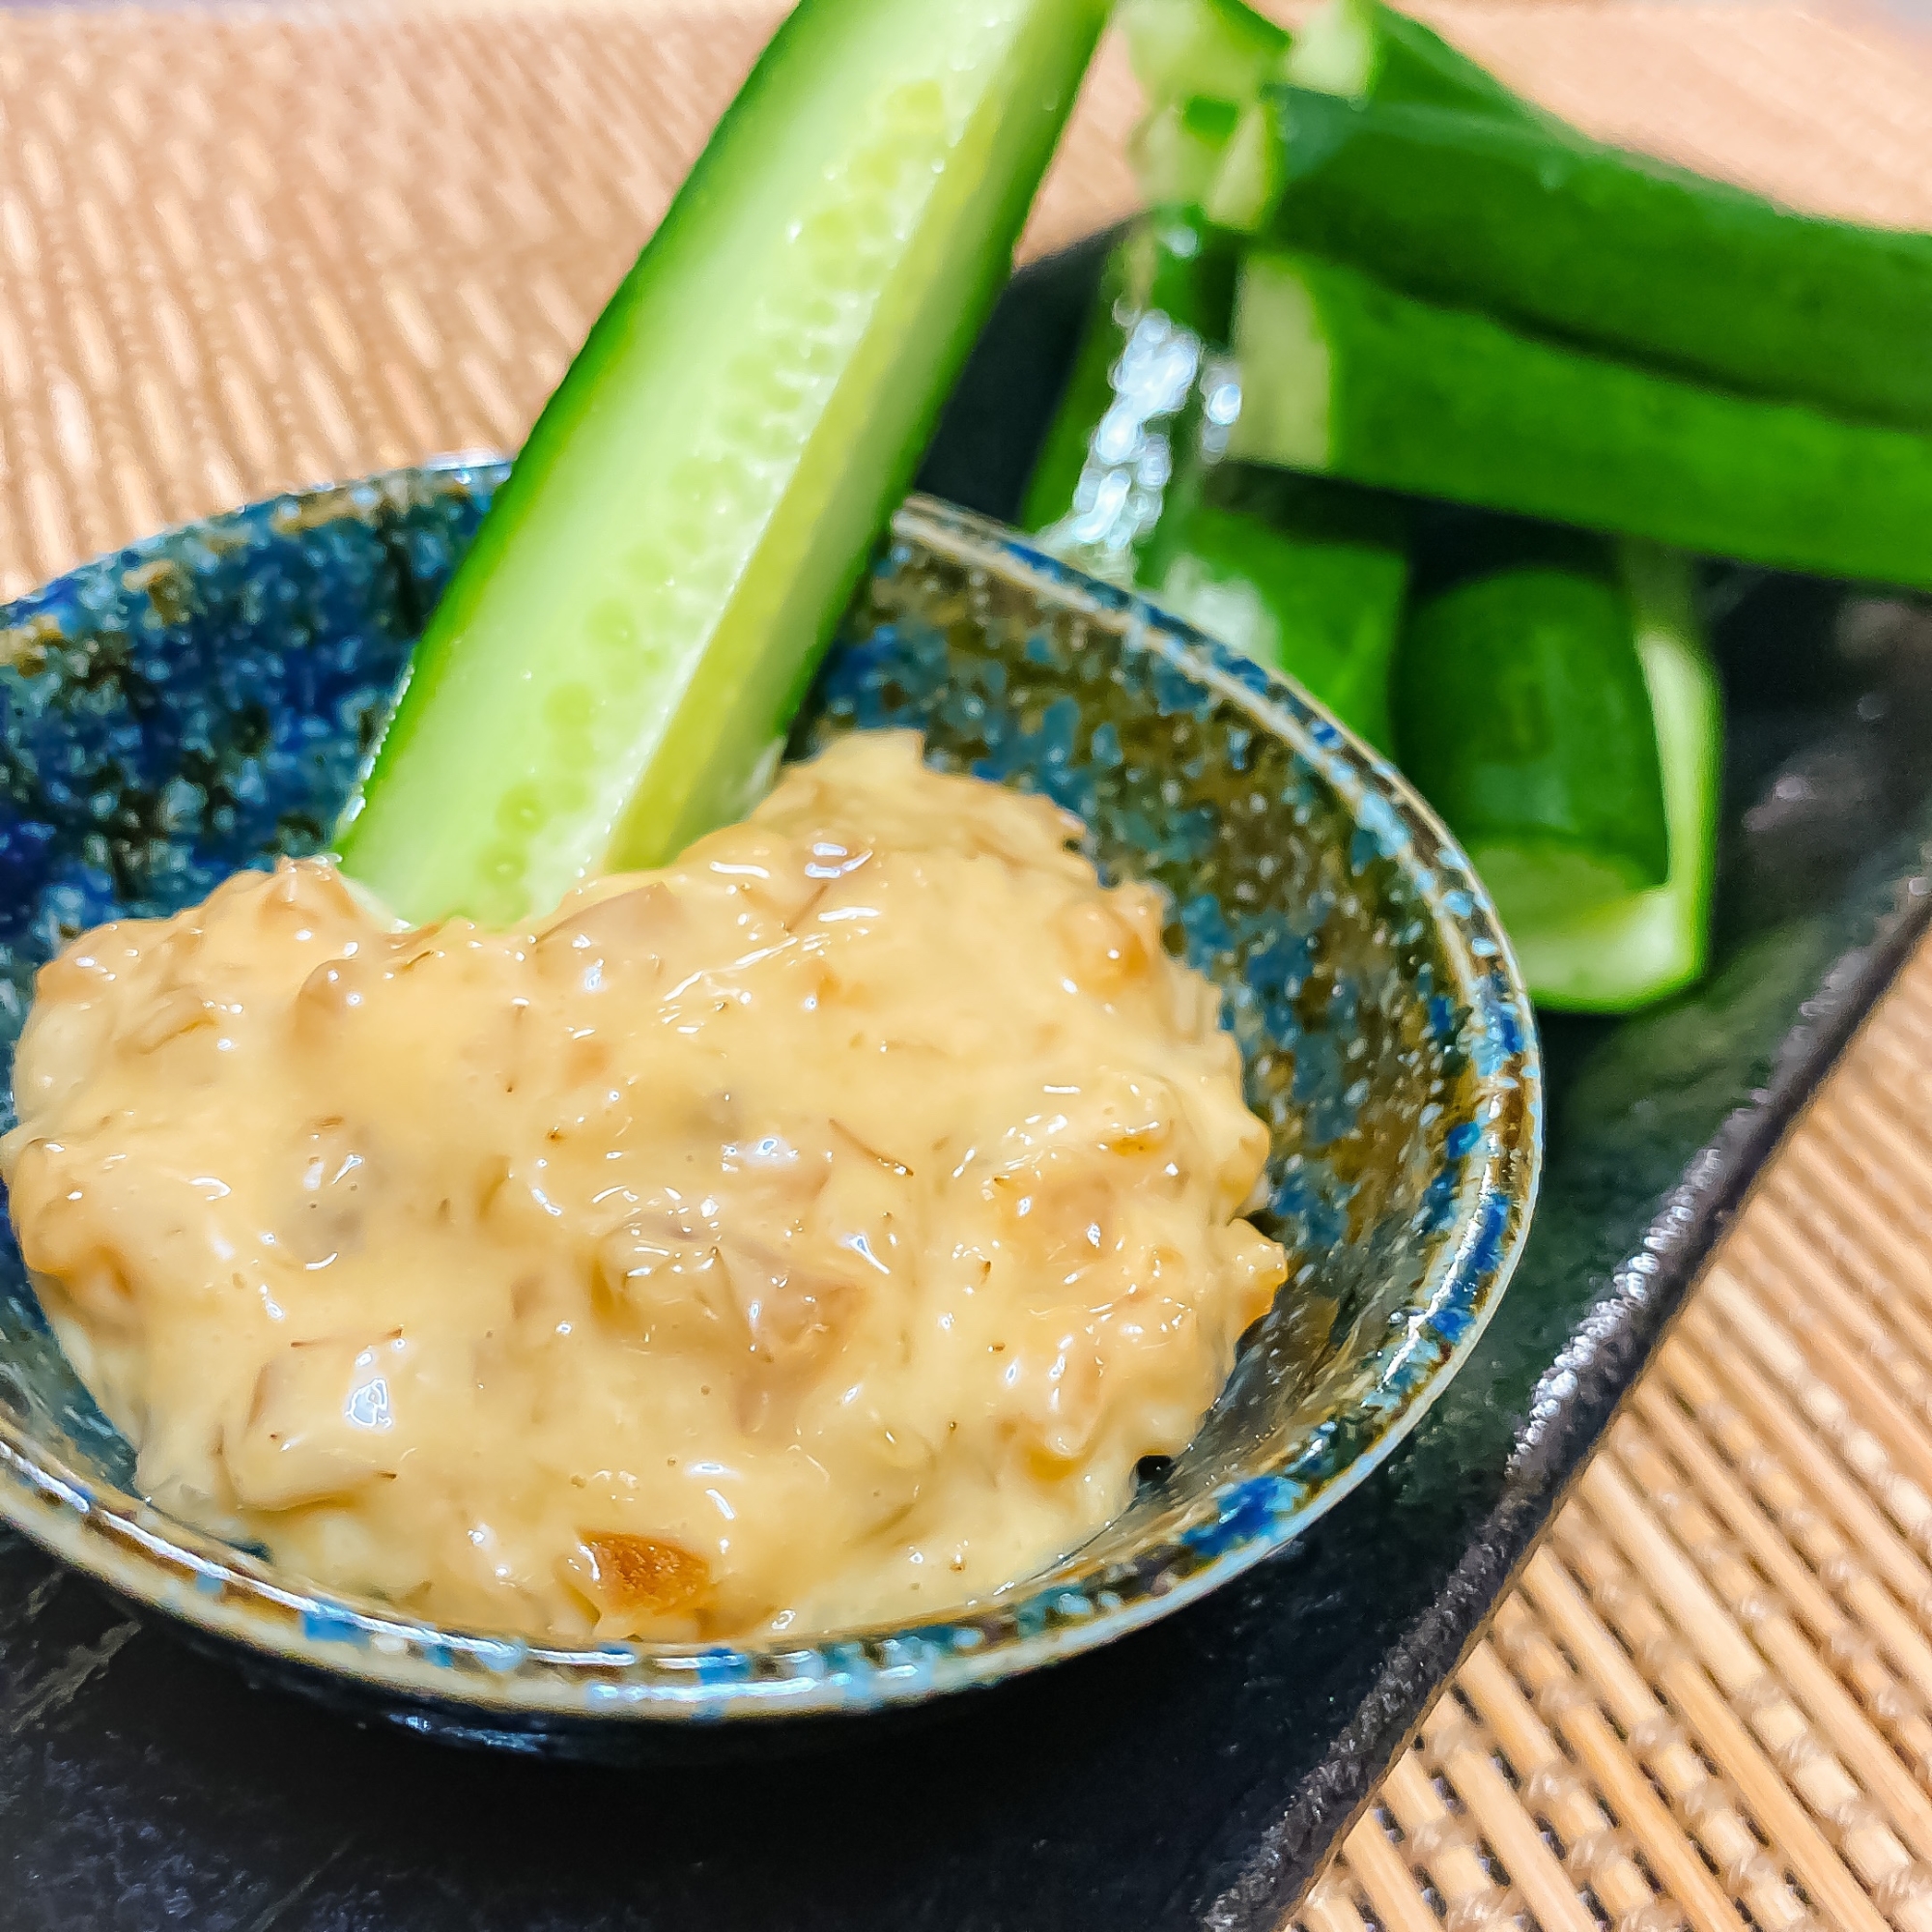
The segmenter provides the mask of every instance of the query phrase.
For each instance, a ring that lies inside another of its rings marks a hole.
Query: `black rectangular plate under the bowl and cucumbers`
[[[1012,510],[1097,265],[1024,276],[923,483]],[[1430,541],[1453,549],[1459,520]],[[1712,570],[1721,960],[1548,1028],[1530,1250],[1410,1445],[1296,1549],[918,1727],[703,1772],[462,1756],[249,1690],[0,1544],[8,1932],[1264,1932],[1453,1669],[1932,910],[1932,616]]]

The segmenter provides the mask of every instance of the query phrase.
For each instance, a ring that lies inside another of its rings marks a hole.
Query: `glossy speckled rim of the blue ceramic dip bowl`
[[[0,628],[89,570],[137,566],[197,531],[236,526],[249,516],[309,510],[334,495],[408,491],[435,479],[471,487],[477,471],[506,468],[500,456],[460,452],[348,483],[280,491],[79,564],[0,607]],[[1542,1063],[1534,1012],[1474,867],[1401,773],[1298,686],[978,512],[914,495],[895,512],[891,531],[898,541],[918,543],[968,568],[997,570],[1043,601],[1099,618],[1109,632],[1119,632],[1124,647],[1161,655],[1244,709],[1258,728],[1285,740],[1318,769],[1358,827],[1374,825],[1385,856],[1408,873],[1428,906],[1457,972],[1459,1001],[1472,1018],[1482,1016],[1492,1039],[1503,1039],[1495,1065],[1476,1068],[1474,1119],[1486,1124],[1464,1163],[1447,1233],[1437,1236],[1435,1258],[1416,1293],[1420,1312],[1447,1298],[1466,1306],[1466,1318],[1447,1341],[1435,1343],[1430,1360],[1422,1360],[1420,1374],[1401,1405],[1387,1410],[1379,1432],[1318,1486],[1256,1476],[1215,1492],[1221,1515],[1209,1528],[1225,1534],[1204,1540],[1198,1546],[1202,1559],[1180,1575],[1163,1573],[1130,1600],[1107,1588],[1090,1600],[1084,1590],[1049,1578],[1041,1588],[1014,1586],[999,1598],[918,1623],[790,1644],[775,1638],[755,1646],[545,1646],[444,1629],[384,1609],[375,1600],[288,1578],[274,1565],[191,1530],[135,1495],[91,1484],[4,1414],[0,1520],[193,1633],[288,1665],[299,1677],[377,1692],[398,1704],[466,1712],[481,1719],[481,1729],[471,1729],[469,1737],[510,1743],[518,1719],[558,1719],[572,1729],[599,1731],[636,1719],[775,1721],[883,1710],[1001,1683],[1099,1648],[1200,1600],[1285,1548],[1393,1455],[1474,1352],[1495,1314],[1528,1236],[1542,1173]],[[1432,862],[1424,864],[1418,852]],[[1515,1101],[1507,1103],[1505,1094],[1515,1094]],[[1182,1544],[1192,1534],[1188,1530]],[[1016,1634],[989,1640],[989,1613]],[[460,1725],[423,1727],[462,1731]]]

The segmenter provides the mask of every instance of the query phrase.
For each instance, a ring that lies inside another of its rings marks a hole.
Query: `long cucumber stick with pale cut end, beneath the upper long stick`
[[[1932,437],[1698,388],[1254,251],[1231,454],[1745,562],[1932,589]]]

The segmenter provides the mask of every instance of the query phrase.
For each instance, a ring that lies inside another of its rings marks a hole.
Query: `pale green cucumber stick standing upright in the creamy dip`
[[[775,763],[999,286],[1107,0],[802,0],[417,645],[348,873],[514,922]]]

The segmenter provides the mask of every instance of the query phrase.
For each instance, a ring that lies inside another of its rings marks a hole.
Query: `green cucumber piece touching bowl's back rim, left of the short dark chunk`
[[[1144,582],[1157,601],[1294,678],[1356,736],[1389,752],[1406,539],[1399,498],[1219,464],[1192,502],[1163,518]],[[1180,587],[1186,595],[1175,595]],[[1217,626],[1217,603],[1252,612],[1242,636]]]

